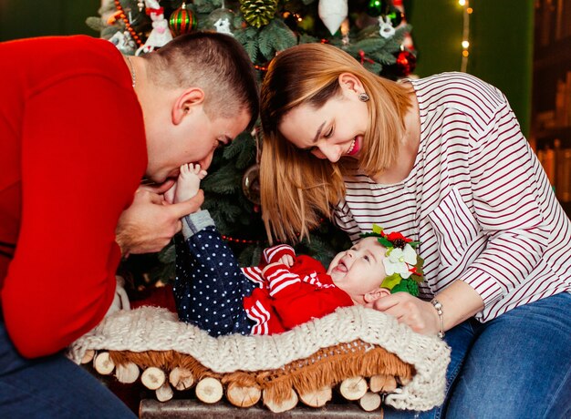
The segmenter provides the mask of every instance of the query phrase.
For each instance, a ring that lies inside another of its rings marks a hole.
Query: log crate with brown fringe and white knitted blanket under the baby
[[[360,306],[278,335],[219,338],[142,307],[104,319],[69,357],[121,383],[140,380],[161,402],[193,392],[203,404],[225,398],[281,413],[298,403],[324,406],[336,392],[369,412],[382,401],[411,410],[441,404],[450,349]]]

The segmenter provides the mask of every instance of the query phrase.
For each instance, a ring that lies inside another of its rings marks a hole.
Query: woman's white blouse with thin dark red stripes
[[[484,301],[480,322],[571,291],[571,223],[504,94],[463,73],[408,80],[420,110],[409,176],[347,176],[335,211],[352,240],[373,223],[420,240],[420,298],[461,280]]]

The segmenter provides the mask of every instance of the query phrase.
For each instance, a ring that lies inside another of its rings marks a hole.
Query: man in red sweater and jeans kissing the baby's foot
[[[160,250],[199,209],[202,194],[162,193],[253,124],[254,69],[222,34],[140,57],[88,36],[0,56],[0,417],[132,417],[61,352],[109,310],[121,255]]]

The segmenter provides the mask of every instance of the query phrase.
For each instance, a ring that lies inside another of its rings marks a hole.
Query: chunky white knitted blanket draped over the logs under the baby
[[[428,410],[444,400],[450,348],[382,312],[352,306],[294,330],[265,336],[238,334],[213,338],[191,324],[179,322],[166,309],[141,307],[115,312],[74,342],[68,356],[79,363],[87,350],[176,351],[191,355],[216,373],[271,370],[304,359],[321,348],[342,342],[377,344],[416,369],[410,383],[387,395],[398,409]]]

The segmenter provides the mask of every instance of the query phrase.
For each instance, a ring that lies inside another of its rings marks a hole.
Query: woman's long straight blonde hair
[[[261,88],[264,143],[260,162],[263,218],[270,240],[307,237],[345,194],[351,161],[319,159],[296,148],[279,132],[285,114],[299,105],[316,109],[340,92],[338,77],[350,73],[369,95],[369,129],[358,169],[375,176],[396,161],[410,107],[406,87],[370,73],[345,51],[324,44],[293,46],[270,63]]]

